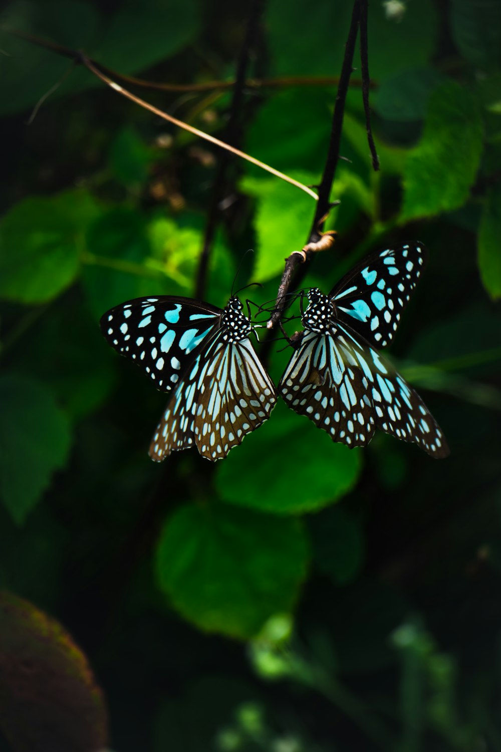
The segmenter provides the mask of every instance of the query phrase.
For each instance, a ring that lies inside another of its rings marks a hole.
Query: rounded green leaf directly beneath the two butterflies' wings
[[[361,466],[360,450],[334,444],[279,402],[272,419],[217,465],[216,488],[233,505],[297,514],[341,499],[355,486]],[[253,467],[259,472],[249,473]]]

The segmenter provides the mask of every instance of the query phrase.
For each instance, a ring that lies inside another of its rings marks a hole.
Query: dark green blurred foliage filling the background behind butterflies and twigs
[[[7,29],[144,80],[229,81],[249,8],[2,11],[2,752],[501,750],[501,5],[371,3],[381,171],[355,71],[337,242],[303,283],[427,245],[391,358],[448,459],[380,432],[349,450],[281,403],[216,465],[195,450],[155,465],[165,397],[99,332],[126,299],[194,295],[221,152]],[[238,145],[308,185],[351,11],[267,0],[252,47]],[[134,91],[224,138],[231,88]],[[233,159],[220,208],[204,298],[225,305],[252,247],[237,287],[273,299],[314,202]],[[284,346],[268,351],[276,383]]]

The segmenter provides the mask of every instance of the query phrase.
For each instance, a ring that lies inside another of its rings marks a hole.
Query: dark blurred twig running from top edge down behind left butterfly
[[[239,120],[240,112],[243,107],[244,89],[246,84],[246,72],[249,67],[249,59],[255,38],[258,32],[259,20],[263,13],[264,0],[253,0],[249,17],[246,23],[246,32],[243,44],[240,49],[240,55],[237,61],[237,75],[233,96],[231,99],[230,114],[228,124],[225,129],[225,142],[235,144],[240,141]],[[198,262],[197,282],[195,287],[195,298],[201,300],[204,298],[205,284],[207,279],[207,268],[209,265],[210,251],[213,246],[214,234],[220,217],[220,205],[224,197],[226,188],[226,173],[231,163],[231,153],[223,151],[219,158],[219,165],[216,171],[216,177],[213,183],[210,207],[207,214],[207,223],[204,232],[204,246],[202,248],[200,260]]]

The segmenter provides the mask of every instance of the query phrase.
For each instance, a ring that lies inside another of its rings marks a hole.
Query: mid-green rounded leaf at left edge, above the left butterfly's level
[[[42,303],[62,293],[78,274],[83,233],[98,213],[83,190],[11,208],[0,222],[0,297]]]

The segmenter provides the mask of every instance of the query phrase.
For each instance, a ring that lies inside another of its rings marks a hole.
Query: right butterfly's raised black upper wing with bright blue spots
[[[364,259],[329,293],[336,317],[373,347],[386,347],[426,262],[421,243],[387,248]]]

